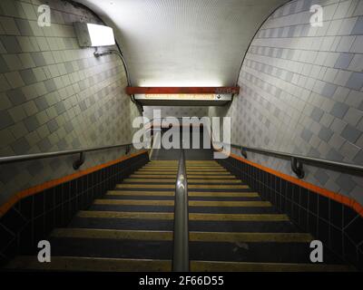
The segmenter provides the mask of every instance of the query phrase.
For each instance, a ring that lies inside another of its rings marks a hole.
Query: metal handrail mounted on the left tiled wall
[[[6,156],[6,157],[0,157],[0,165],[15,163],[15,162],[22,162],[22,161],[29,161],[29,160],[42,160],[42,159],[46,159],[46,158],[59,157],[59,156],[64,156],[64,155],[80,154],[80,158],[78,160],[74,161],[74,169],[79,169],[84,162],[85,152],[110,150],[110,149],[114,149],[114,148],[126,148],[126,154],[127,154],[130,151],[131,147],[132,147],[132,143],[129,143],[129,144],[118,144],[118,145],[100,146],[100,147],[74,149],[74,150],[62,150],[62,151],[54,151],[54,152],[46,152],[46,153],[34,153],[34,154],[25,154],[25,155]]]

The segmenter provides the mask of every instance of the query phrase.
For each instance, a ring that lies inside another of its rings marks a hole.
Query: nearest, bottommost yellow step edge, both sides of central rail
[[[168,272],[171,260],[52,256],[52,263],[39,263],[36,256],[17,256],[7,269],[90,272]],[[193,272],[343,272],[350,266],[292,263],[191,261]]]

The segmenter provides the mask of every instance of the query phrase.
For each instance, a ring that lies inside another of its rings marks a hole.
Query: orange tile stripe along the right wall
[[[348,206],[349,208],[353,208],[354,210],[356,210],[358,212],[358,214],[363,217],[363,206],[360,205],[358,203],[358,201],[354,200],[353,198],[348,198],[346,196],[343,196],[337,192],[333,192],[333,191],[330,191],[328,189],[322,189],[322,188],[319,188],[318,186],[316,185],[313,185],[309,182],[306,182],[306,181],[303,181],[301,179],[297,179],[297,178],[294,178],[292,176],[289,176],[287,174],[284,174],[280,171],[277,171],[277,170],[274,170],[274,169],[270,169],[268,167],[265,167],[265,166],[262,166],[258,163],[255,163],[255,162],[252,162],[250,160],[245,160],[244,158],[236,155],[236,154],[233,154],[231,153],[231,158],[235,159],[235,160],[240,160],[244,163],[247,163],[255,168],[258,168],[258,169],[261,169],[261,170],[264,170],[266,172],[269,172],[270,174],[273,174],[281,179],[285,179],[291,183],[294,183],[296,185],[298,185],[299,187],[302,187],[302,188],[305,188],[305,189],[309,189],[310,191],[313,191],[315,193],[318,193],[319,195],[322,195],[324,197],[327,197],[327,198],[331,198],[331,199],[334,199],[335,201],[338,201],[339,203],[342,203],[343,205],[346,205]]]

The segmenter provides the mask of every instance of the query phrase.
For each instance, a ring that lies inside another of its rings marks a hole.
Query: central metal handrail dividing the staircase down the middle
[[[184,150],[175,184],[172,271],[189,272],[188,186]]]

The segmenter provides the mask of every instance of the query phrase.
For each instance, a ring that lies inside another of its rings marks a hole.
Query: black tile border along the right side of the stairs
[[[363,217],[353,208],[288,180],[229,157],[217,160],[287,214],[300,229],[318,238],[348,264],[363,270]]]

